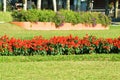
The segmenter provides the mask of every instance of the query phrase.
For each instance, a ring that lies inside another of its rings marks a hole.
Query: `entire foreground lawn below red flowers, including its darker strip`
[[[119,80],[119,54],[1,56],[0,80]]]

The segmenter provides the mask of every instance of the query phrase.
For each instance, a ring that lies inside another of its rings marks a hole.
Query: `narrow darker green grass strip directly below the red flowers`
[[[1,56],[0,62],[40,62],[40,61],[120,61],[120,54],[84,54],[56,56]]]

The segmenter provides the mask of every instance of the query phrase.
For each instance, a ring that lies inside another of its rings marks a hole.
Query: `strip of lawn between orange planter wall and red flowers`
[[[66,36],[72,34],[73,36],[83,37],[86,34],[94,35],[103,38],[116,38],[120,36],[120,26],[111,26],[109,30],[78,30],[78,31],[30,31],[24,30],[13,24],[0,24],[0,35],[9,35],[16,38],[30,39],[33,36],[42,35],[45,38],[52,36]]]

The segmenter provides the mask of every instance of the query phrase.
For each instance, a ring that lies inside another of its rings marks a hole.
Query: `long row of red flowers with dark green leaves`
[[[36,36],[31,40],[0,37],[0,55],[70,55],[90,53],[120,53],[120,37],[96,38],[86,35],[54,36],[44,39]]]

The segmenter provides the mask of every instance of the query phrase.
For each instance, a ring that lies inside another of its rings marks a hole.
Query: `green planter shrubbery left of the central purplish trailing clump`
[[[52,10],[36,10],[28,11],[14,11],[12,16],[14,21],[30,21],[30,22],[51,22],[53,21],[55,13]]]

